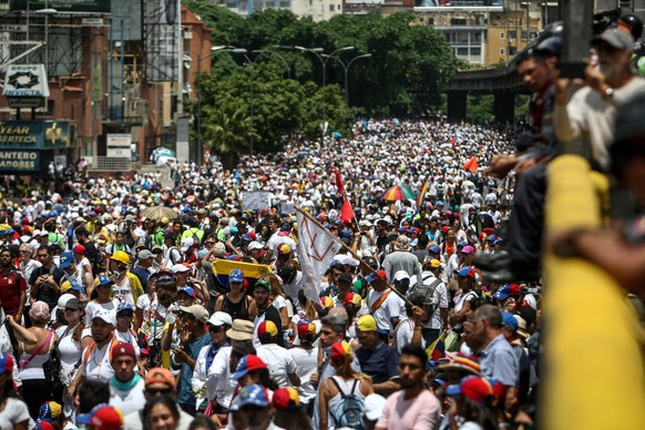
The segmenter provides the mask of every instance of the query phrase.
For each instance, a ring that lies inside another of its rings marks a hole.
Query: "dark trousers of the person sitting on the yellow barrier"
[[[530,168],[520,176],[515,185],[505,249],[521,270],[540,269],[546,166],[547,164],[540,164]]]

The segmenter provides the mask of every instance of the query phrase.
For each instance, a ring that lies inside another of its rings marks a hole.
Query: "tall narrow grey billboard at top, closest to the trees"
[[[150,82],[180,80],[180,0],[143,2],[145,75]]]

